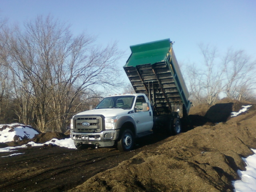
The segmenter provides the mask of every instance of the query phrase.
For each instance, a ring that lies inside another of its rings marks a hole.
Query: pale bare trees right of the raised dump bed
[[[229,49],[224,56],[216,48],[200,45],[204,62],[187,69],[190,99],[194,104],[214,104],[220,93],[232,99],[245,99],[256,89],[255,61],[244,51]]]

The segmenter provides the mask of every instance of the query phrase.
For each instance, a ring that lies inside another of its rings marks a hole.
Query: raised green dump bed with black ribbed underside
[[[189,94],[170,39],[130,46],[124,70],[136,93],[148,96],[157,114],[190,109]]]

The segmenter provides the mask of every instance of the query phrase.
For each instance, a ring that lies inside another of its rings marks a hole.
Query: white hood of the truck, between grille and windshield
[[[126,115],[128,114],[129,111],[131,111],[131,109],[121,109],[121,108],[93,109],[93,110],[80,112],[76,115],[104,115],[105,117],[114,117],[114,116]]]

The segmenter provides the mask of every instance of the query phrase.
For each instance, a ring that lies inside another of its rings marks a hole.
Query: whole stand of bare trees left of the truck
[[[116,43],[105,47],[88,34],[38,16],[22,29],[0,21],[0,121],[18,121],[41,132],[64,132],[72,115],[122,86]]]

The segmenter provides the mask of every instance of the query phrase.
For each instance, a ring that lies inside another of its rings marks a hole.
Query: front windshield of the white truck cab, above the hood
[[[107,109],[107,108],[132,108],[133,100],[135,96],[114,96],[104,98],[95,109]]]

